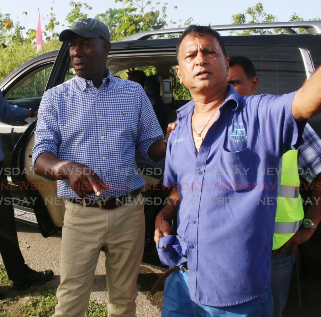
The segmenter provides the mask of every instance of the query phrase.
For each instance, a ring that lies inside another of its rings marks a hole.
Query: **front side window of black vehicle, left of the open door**
[[[22,80],[20,80],[12,89],[7,100],[25,99],[32,97],[42,97],[52,69],[52,64],[39,68]]]

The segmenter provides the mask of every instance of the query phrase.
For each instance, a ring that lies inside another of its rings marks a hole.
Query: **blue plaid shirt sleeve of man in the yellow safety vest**
[[[307,123],[303,132],[303,145],[299,149],[299,174],[311,183],[321,173],[321,139]]]

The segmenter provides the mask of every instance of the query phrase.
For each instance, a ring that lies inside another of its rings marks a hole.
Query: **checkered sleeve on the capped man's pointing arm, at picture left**
[[[32,167],[34,168],[38,156],[43,152],[48,151],[57,155],[60,143],[58,113],[51,101],[49,92],[45,92],[38,110],[35,145],[32,149]]]

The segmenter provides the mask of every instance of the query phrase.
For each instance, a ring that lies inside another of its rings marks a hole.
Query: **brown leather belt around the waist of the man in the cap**
[[[100,209],[114,209],[122,205],[131,203],[137,195],[140,193],[140,188],[135,189],[131,193],[121,197],[110,197],[110,198],[67,198],[69,202],[75,205],[83,205],[86,207],[96,207]]]

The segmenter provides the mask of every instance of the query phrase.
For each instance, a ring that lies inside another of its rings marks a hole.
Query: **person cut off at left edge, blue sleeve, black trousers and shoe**
[[[19,108],[5,102],[0,91],[1,120],[24,120],[26,117],[33,117],[34,115],[37,116],[37,111]],[[4,153],[0,140],[0,253],[4,267],[9,280],[13,281],[13,286],[16,288],[44,283],[52,278],[53,272],[51,270],[37,272],[30,269],[25,264],[19,248],[14,210],[7,186],[7,175],[4,172],[2,163],[3,159]],[[8,201],[10,202],[9,204]]]

